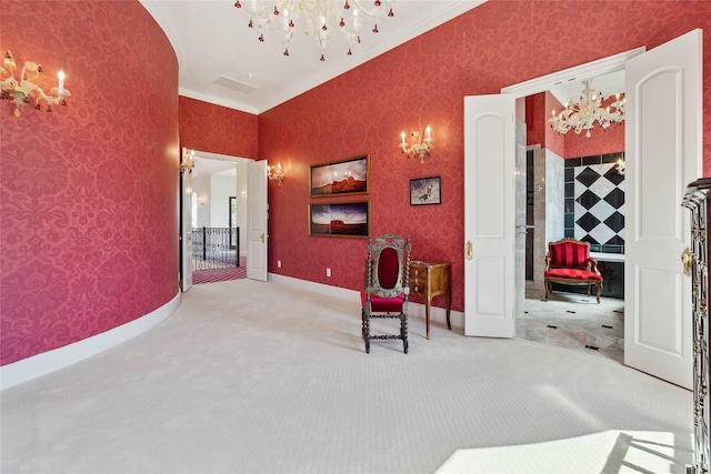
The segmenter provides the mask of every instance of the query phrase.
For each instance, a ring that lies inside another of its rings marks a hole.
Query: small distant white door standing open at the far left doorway
[[[247,278],[267,281],[267,160],[247,164]]]

